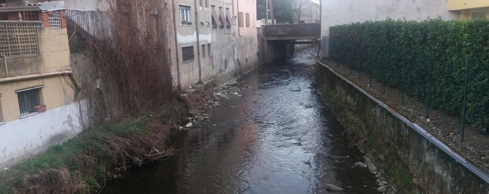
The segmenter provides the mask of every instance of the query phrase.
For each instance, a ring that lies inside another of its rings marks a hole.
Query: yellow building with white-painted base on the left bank
[[[0,165],[83,128],[62,1],[0,7]]]

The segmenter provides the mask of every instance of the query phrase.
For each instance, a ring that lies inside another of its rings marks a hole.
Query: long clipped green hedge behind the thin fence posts
[[[466,120],[489,134],[489,21],[422,22],[388,19],[330,27],[330,57],[372,74],[425,102],[431,59],[430,106],[462,115],[465,60],[469,59]],[[404,73],[402,73],[405,62]]]

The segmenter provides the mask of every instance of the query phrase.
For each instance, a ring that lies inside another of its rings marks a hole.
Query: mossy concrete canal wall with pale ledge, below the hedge
[[[318,63],[322,98],[401,191],[489,194],[488,176],[427,131]]]

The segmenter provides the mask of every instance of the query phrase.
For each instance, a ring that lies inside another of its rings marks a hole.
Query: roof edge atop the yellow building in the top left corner
[[[27,6],[5,6],[0,4],[0,13],[19,12],[19,11],[57,11],[65,9],[64,1],[36,2]]]

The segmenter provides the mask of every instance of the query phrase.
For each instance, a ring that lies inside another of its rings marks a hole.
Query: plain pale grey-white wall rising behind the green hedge
[[[459,18],[458,12],[447,11],[447,0],[322,0],[321,3],[322,37],[329,37],[330,26],[382,21],[388,17],[417,21],[439,16],[443,20]]]

